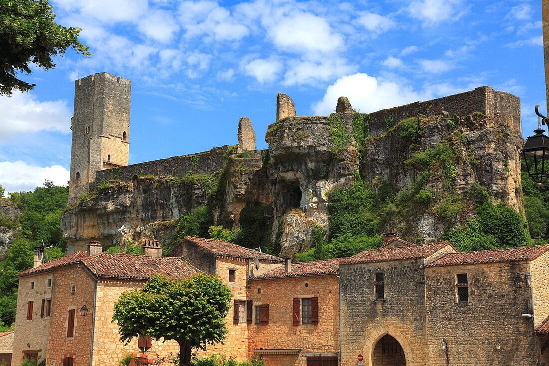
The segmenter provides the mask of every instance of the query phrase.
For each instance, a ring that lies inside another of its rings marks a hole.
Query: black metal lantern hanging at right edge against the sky
[[[537,130],[534,130],[536,134],[528,137],[520,152],[526,163],[528,175],[536,183],[542,184],[549,179],[549,167],[545,164],[546,159],[549,164],[549,137],[544,135],[545,130],[541,129],[541,125],[549,125],[549,119],[537,112],[537,107],[539,106],[536,106],[535,110],[541,123],[538,122]]]

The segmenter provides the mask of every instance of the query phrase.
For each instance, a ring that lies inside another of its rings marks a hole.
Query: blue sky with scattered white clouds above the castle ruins
[[[489,85],[522,99],[524,137],[545,112],[539,1],[50,2],[93,56],[68,52],[0,97],[8,191],[66,183],[74,80],[103,71],[132,80],[130,164],[234,145],[243,116],[265,148],[278,92],[328,115],[339,96],[374,112]]]

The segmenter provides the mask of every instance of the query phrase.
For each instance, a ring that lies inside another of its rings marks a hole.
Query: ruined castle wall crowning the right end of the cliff
[[[500,119],[507,120],[514,131],[520,133],[520,98],[495,91],[489,86],[481,86],[464,93],[370,113],[369,136],[384,134],[387,130],[385,119],[393,118],[397,123],[406,118],[417,117],[418,114],[441,115],[443,110],[450,116],[457,114],[460,117],[473,112],[496,114]]]

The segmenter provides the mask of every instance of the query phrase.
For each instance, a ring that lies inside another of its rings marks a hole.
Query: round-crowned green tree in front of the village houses
[[[164,337],[180,347],[180,366],[191,365],[191,349],[204,350],[225,339],[231,290],[216,276],[203,273],[186,280],[159,275],[139,290],[122,293],[114,305],[120,340],[139,334]]]

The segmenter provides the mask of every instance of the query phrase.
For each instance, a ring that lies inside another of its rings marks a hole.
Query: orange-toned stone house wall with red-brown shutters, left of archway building
[[[249,324],[248,357],[254,350],[300,349],[307,353],[339,353],[339,281],[335,275],[249,281],[253,323]],[[261,289],[261,293],[258,293]],[[318,324],[293,325],[293,298],[318,297]],[[269,324],[255,324],[255,306],[269,304]],[[259,356],[259,355],[258,355]],[[299,366],[298,355],[264,355],[266,366]]]

